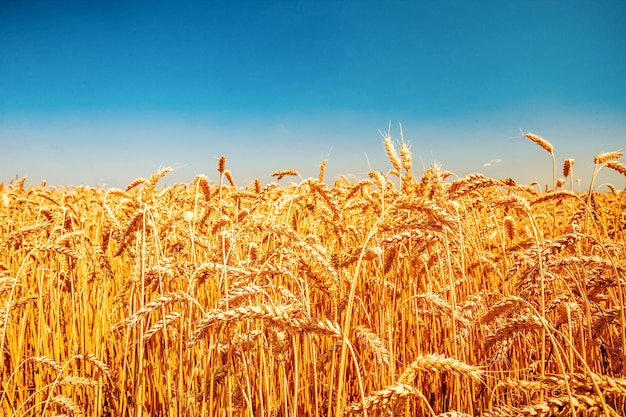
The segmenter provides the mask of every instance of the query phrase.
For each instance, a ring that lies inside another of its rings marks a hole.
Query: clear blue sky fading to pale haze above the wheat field
[[[332,182],[390,168],[391,121],[418,175],[551,182],[522,129],[584,184],[626,148],[625,18],[621,0],[2,1],[0,182],[215,181],[221,155],[238,185],[324,159]]]

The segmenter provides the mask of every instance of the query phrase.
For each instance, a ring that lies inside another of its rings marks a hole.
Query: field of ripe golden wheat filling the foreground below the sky
[[[624,192],[385,148],[332,186],[0,184],[0,415],[625,415]]]

